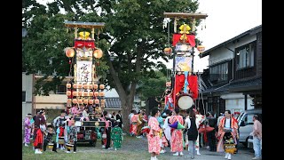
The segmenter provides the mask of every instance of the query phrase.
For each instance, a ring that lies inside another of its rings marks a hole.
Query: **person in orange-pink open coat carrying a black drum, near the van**
[[[225,117],[220,120],[218,126],[217,136],[220,137],[217,143],[217,152],[224,152],[224,144],[237,144],[238,133],[238,121],[231,117],[231,111],[225,110]],[[231,159],[232,153],[225,151],[225,158]]]

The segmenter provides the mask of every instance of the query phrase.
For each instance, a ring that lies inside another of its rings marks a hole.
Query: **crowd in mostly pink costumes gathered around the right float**
[[[136,112],[133,112],[130,114],[130,135],[139,138],[137,124],[141,119],[138,120]],[[201,155],[201,147],[213,152],[225,152],[225,159],[232,159],[233,154],[237,153],[237,150],[232,153],[224,148],[224,144],[237,145],[239,139],[238,122],[230,110],[215,118],[210,113],[203,116],[195,108],[187,109],[186,116],[180,115],[179,108],[162,113],[159,108],[154,108],[142,132],[146,132],[151,160],[156,160],[158,155],[167,151],[172,156],[183,156],[185,149],[193,159],[195,155]]]

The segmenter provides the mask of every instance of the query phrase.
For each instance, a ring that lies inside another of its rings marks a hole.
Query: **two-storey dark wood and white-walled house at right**
[[[262,108],[262,25],[200,54],[209,56],[201,91],[205,110],[219,115]],[[203,108],[201,108],[202,110]]]

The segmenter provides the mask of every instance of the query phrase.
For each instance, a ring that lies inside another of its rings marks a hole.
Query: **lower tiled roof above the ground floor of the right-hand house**
[[[212,86],[202,93],[205,94],[209,92],[212,92],[212,93],[232,92],[233,90],[236,90],[236,89],[239,89],[239,91],[241,90],[244,91],[246,88],[248,89],[248,87],[258,87],[261,89],[262,88],[262,77],[258,76],[258,77],[253,77],[250,79],[232,81],[231,84],[221,84],[217,86]]]

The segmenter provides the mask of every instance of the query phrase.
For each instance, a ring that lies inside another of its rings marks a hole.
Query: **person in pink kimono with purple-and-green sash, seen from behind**
[[[170,124],[174,124],[177,121],[180,124],[184,124],[183,116],[179,115],[179,108],[175,108],[176,115],[170,117]],[[179,129],[172,129],[171,137],[170,137],[170,151],[176,152],[173,156],[178,156],[178,152],[180,156],[183,156],[184,150],[184,138],[183,138],[183,131]]]

